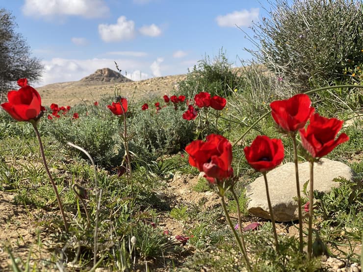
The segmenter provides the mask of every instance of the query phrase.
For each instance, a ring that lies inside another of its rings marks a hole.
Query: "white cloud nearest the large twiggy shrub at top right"
[[[226,15],[219,15],[215,19],[219,26],[248,26],[253,20],[259,19],[259,8],[251,8],[250,11],[243,9],[241,11],[233,11]]]

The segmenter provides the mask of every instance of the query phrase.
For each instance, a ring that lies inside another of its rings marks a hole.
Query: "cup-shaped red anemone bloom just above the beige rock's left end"
[[[284,159],[284,145],[281,139],[257,136],[250,147],[243,149],[246,160],[255,170],[267,172],[281,164]]]

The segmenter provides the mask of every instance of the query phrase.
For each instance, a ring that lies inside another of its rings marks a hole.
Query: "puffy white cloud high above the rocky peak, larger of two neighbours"
[[[135,23],[127,21],[125,16],[119,17],[115,25],[98,25],[98,32],[105,42],[118,42],[133,39],[135,35]]]

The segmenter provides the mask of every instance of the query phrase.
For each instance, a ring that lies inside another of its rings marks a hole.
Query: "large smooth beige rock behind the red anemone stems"
[[[344,177],[347,180],[354,180],[356,176],[353,170],[344,163],[325,158],[320,161],[321,163],[314,163],[314,190],[327,193],[331,188],[339,186],[338,182],[333,181],[334,178]],[[309,162],[301,163],[299,164],[301,191],[303,184],[308,180],[310,180]],[[294,163],[286,163],[268,172],[267,182],[275,220],[279,222],[297,220],[297,201],[294,200],[297,196]],[[247,186],[247,197],[249,198],[247,208],[250,213],[260,218],[270,219],[263,176]]]

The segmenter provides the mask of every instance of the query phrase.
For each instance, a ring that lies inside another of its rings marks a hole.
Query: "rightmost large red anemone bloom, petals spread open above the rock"
[[[313,158],[320,158],[330,153],[337,145],[349,140],[348,135],[341,133],[336,139],[343,121],[336,118],[325,118],[315,113],[310,118],[307,129],[300,129],[301,145]]]

